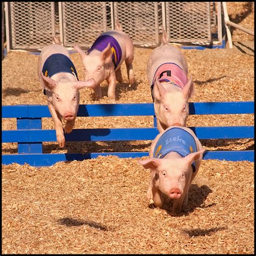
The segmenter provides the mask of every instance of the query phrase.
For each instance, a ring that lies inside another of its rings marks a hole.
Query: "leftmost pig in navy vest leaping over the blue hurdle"
[[[56,37],[52,44],[45,46],[38,60],[38,78],[47,97],[49,111],[56,129],[59,147],[65,146],[65,133],[70,133],[75,125],[79,106],[79,89],[93,87],[95,81],[78,81],[76,68],[68,50],[60,45]],[[63,131],[62,118],[66,120]]]

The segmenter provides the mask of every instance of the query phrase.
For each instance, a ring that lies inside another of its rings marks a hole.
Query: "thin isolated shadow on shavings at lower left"
[[[65,225],[67,227],[78,227],[82,225],[88,225],[89,227],[96,228],[97,230],[102,231],[111,231],[113,228],[109,228],[103,224],[97,223],[92,220],[81,220],[81,219],[73,219],[73,218],[62,218],[57,220],[57,224]]]

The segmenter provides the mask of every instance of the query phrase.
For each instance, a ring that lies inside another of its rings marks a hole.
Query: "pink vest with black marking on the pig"
[[[151,83],[151,94],[153,100],[153,86],[156,78],[158,78],[159,82],[171,82],[172,84],[179,86],[181,89],[183,89],[187,83],[186,74],[177,64],[171,62],[161,64],[154,73]]]

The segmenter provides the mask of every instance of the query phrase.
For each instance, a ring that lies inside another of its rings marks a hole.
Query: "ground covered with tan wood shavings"
[[[227,2],[230,20],[254,30],[254,4]],[[232,28],[233,49],[184,50],[196,95],[190,102],[254,100],[254,37]],[[152,49],[134,50],[136,85],[117,84],[117,103],[152,103],[146,64]],[[83,79],[77,53],[71,58]],[[10,52],[2,61],[2,105],[43,104],[37,78],[38,55]],[[80,104],[95,100],[90,89],[80,91]],[[254,125],[254,114],[192,116],[187,126]],[[75,129],[152,127],[152,117],[95,117],[76,120]],[[16,120],[3,119],[2,130],[14,130]],[[43,129],[54,129],[43,118]],[[201,140],[206,150],[254,150],[254,139]],[[44,153],[149,151],[151,141],[44,143]],[[3,143],[2,154],[17,153],[17,143]],[[150,172],[138,159],[98,157],[57,163],[37,169],[2,165],[2,253],[25,254],[253,254],[254,163],[203,160],[193,180],[188,206],[178,216],[164,208],[149,208],[146,190]]]

